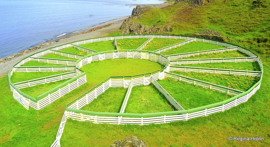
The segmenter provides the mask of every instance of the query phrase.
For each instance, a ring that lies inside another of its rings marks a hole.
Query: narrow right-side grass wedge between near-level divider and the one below
[[[220,62],[220,63],[201,63],[201,64],[181,64],[181,66],[223,68],[248,71],[261,71],[258,62]]]

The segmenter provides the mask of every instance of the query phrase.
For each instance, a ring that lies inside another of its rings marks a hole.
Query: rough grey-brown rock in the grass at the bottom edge
[[[111,147],[147,147],[146,143],[136,136],[126,137],[124,140],[116,140]]]

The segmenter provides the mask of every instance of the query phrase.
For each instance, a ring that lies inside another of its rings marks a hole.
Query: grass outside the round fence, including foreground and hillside
[[[67,119],[61,147],[108,147],[116,139],[135,135],[150,147],[246,147],[270,145],[270,50],[269,0],[253,7],[253,1],[215,0],[205,6],[190,8],[188,3],[163,9],[153,9],[136,20],[153,26],[173,23],[172,32],[189,35],[196,31],[216,30],[227,42],[255,52],[264,65],[261,88],[245,103],[224,112],[178,121],[151,125],[94,124]],[[117,32],[118,33],[118,32]],[[117,35],[113,33],[113,35]],[[110,35],[110,34],[108,34]],[[91,63],[92,64],[92,63]],[[95,79],[93,79],[95,80]],[[0,77],[0,146],[48,147],[55,140],[65,104],[79,97],[89,85],[82,85],[42,110],[25,109],[10,91],[8,77]],[[229,141],[228,137],[263,137],[264,141]]]

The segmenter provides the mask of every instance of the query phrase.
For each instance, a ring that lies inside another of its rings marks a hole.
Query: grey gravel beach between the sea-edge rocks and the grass
[[[165,7],[165,6],[168,6],[168,5],[170,5],[170,4],[165,2],[165,3],[162,3],[162,4],[147,5],[147,6],[152,6],[154,8],[162,8],[162,7]],[[146,5],[143,5],[143,6],[146,6]],[[4,63],[0,64],[0,69],[1,69],[0,70],[0,77],[6,75],[9,72],[9,70],[13,67],[13,65],[17,64],[20,60],[30,56],[33,53],[40,52],[42,50],[46,50],[48,48],[52,48],[52,47],[59,46],[59,45],[62,45],[62,44],[66,44],[66,43],[69,43],[69,42],[75,42],[75,41],[79,41],[79,40],[96,38],[96,37],[103,37],[103,36],[106,36],[109,33],[119,31],[118,29],[120,28],[121,24],[127,18],[128,17],[122,17],[122,18],[118,18],[118,19],[115,19],[115,20],[110,20],[110,21],[107,21],[105,23],[98,24],[98,25],[95,25],[95,26],[92,26],[92,27],[89,27],[89,28],[84,28],[84,29],[81,29],[81,30],[78,30],[78,31],[74,31],[74,32],[72,32],[72,33],[70,33],[68,35],[64,35],[64,36],[61,36],[61,37],[58,37],[58,38],[55,38],[55,39],[48,40],[48,41],[44,42],[45,44],[48,43],[48,45],[45,45],[42,48],[31,51],[31,52],[27,52],[24,55],[20,55],[19,57],[14,57],[10,61],[7,61],[7,62],[4,62]],[[91,32],[88,32],[88,33],[80,34],[81,32],[85,32],[85,31],[88,31],[90,29],[93,29],[93,28],[96,28],[96,27],[101,27],[101,26],[104,26],[104,25],[107,25],[107,24],[112,24],[112,25],[109,25],[108,27],[101,28],[101,29],[91,31]],[[57,42],[55,42],[55,41],[57,41]],[[50,42],[54,42],[54,43],[50,44]]]

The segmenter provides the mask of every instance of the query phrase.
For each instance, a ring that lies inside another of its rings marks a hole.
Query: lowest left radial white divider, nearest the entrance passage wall
[[[72,71],[72,72],[66,72],[66,73],[61,73],[61,74],[57,74],[57,75],[50,75],[50,76],[46,76],[43,78],[37,78],[37,79],[31,79],[31,80],[27,80],[27,81],[17,82],[17,83],[13,83],[13,84],[18,89],[20,89],[20,88],[35,86],[38,84],[60,81],[62,79],[73,78],[76,75],[77,75],[76,71]]]

